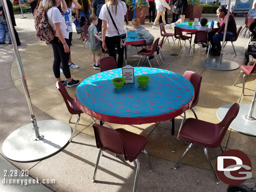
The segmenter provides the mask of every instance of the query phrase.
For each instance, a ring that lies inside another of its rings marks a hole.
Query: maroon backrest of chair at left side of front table
[[[81,114],[83,113],[78,106],[76,105],[76,100],[73,99],[71,96],[69,96],[67,90],[63,86],[60,80],[57,81],[56,83],[56,88],[60,91],[61,95],[63,96],[63,99],[65,101],[65,104],[68,108],[68,111],[71,114]]]

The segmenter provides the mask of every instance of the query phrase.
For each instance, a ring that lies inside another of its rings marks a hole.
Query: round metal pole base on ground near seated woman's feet
[[[219,59],[209,59],[204,60],[201,65],[206,68],[213,69],[213,70],[220,70],[220,71],[229,71],[229,70],[236,70],[239,68],[239,65],[230,60],[222,60],[222,64],[218,64]]]

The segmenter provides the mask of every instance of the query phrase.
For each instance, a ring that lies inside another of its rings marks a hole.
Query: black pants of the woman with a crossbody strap
[[[106,36],[105,43],[107,45],[107,50],[109,52],[109,56],[114,57],[115,62],[116,62],[115,47],[118,48],[118,62],[116,62],[116,63],[117,63],[118,68],[122,68],[123,67],[124,48],[120,48],[120,36],[119,35],[112,36],[112,37]]]

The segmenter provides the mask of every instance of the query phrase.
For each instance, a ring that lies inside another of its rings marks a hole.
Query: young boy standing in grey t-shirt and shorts
[[[90,49],[91,49],[91,58],[93,61],[93,68],[99,69],[99,59],[101,57],[101,45],[98,31],[97,31],[97,24],[98,24],[98,17],[95,15],[90,15],[89,21],[91,22],[91,25],[88,28],[88,34],[89,34],[89,42],[90,42]],[[97,59],[95,61],[95,55],[97,55]]]

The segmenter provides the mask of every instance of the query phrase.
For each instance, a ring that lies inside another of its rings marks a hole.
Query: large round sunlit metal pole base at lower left
[[[61,121],[38,121],[41,140],[33,140],[33,124],[27,124],[12,132],[3,143],[3,154],[13,161],[37,161],[61,150],[69,141],[71,127]]]

